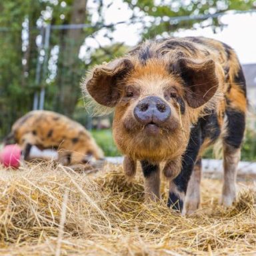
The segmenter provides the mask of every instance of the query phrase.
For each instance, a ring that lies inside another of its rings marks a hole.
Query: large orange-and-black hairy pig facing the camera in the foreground
[[[225,43],[204,37],[145,41],[126,56],[96,66],[83,89],[115,109],[113,137],[124,171],[140,161],[145,195],[159,197],[159,163],[169,179],[168,205],[185,213],[199,207],[201,156],[223,144],[221,203],[236,198],[235,181],[247,110],[245,77]]]

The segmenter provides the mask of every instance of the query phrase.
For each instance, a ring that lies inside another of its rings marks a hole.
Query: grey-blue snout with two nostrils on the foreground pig
[[[137,121],[143,125],[160,125],[171,116],[171,108],[165,101],[157,96],[148,96],[139,101],[133,114]]]

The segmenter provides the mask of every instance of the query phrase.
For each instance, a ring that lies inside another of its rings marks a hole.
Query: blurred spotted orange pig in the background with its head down
[[[11,139],[21,146],[25,160],[29,159],[33,145],[41,150],[57,149],[57,161],[64,165],[87,163],[91,158],[99,160],[104,157],[83,125],[52,111],[31,111],[18,119],[5,142]]]

